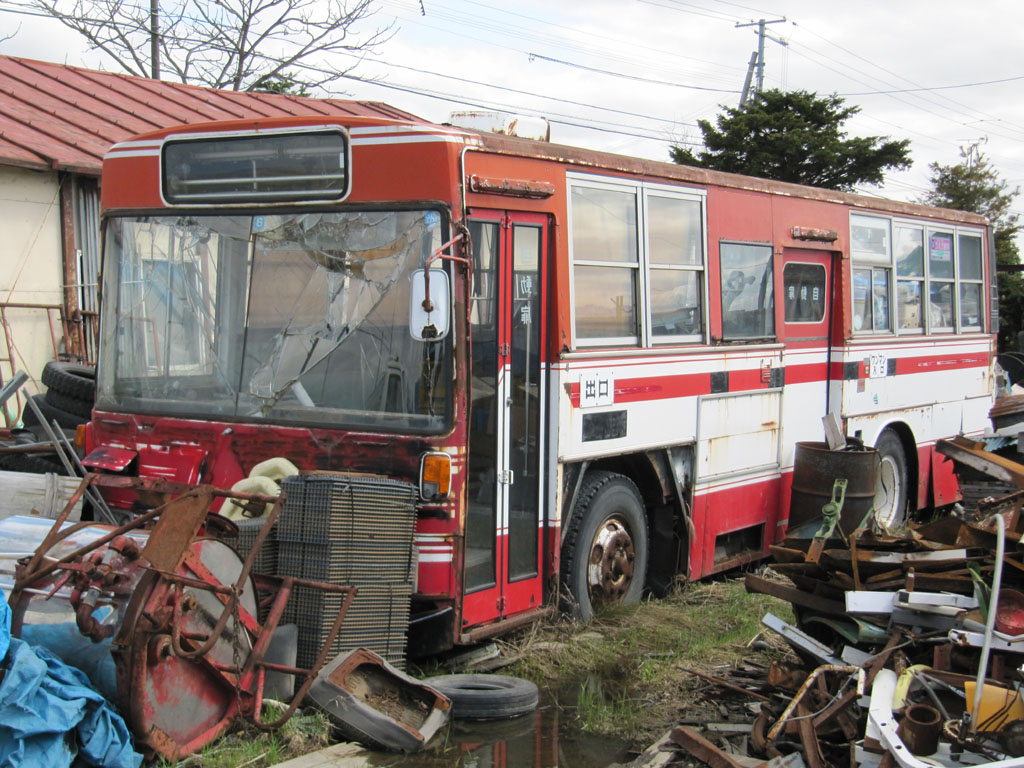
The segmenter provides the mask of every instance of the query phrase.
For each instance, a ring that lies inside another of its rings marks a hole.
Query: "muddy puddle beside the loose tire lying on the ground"
[[[583,733],[571,712],[542,706],[509,720],[456,720],[416,755],[381,754],[380,768],[606,768],[627,760],[626,744]]]

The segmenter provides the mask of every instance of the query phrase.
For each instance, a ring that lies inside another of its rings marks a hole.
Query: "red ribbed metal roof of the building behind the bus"
[[[212,120],[358,115],[415,120],[379,101],[200,88],[0,56],[0,164],[98,174],[103,154],[137,133]]]

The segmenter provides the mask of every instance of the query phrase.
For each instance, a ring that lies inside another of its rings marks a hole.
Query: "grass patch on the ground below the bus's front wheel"
[[[703,685],[686,670],[714,674],[751,655],[746,645],[768,611],[793,621],[788,603],[748,594],[742,579],[686,585],[588,626],[562,620],[536,628],[519,638],[522,659],[505,672],[553,692],[583,730],[641,742],[671,726]]]

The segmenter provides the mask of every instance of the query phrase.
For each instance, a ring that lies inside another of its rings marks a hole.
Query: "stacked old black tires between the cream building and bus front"
[[[47,362],[42,380],[46,393],[32,395],[32,400],[49,426],[52,427],[55,421],[63,430],[71,432],[89,420],[96,395],[96,369],[93,366],[60,360]],[[28,402],[22,409],[22,423],[26,429],[12,433],[15,442],[48,441],[35,410]],[[55,455],[36,453],[0,456],[0,470],[67,474]]]

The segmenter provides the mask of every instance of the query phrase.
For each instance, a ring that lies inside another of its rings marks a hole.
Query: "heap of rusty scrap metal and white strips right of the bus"
[[[982,443],[939,450],[1024,488],[1024,466]],[[746,578],[792,603],[796,626],[762,621],[800,659],[773,663],[760,692],[738,688],[760,700],[746,736],[757,757],[685,728],[669,745],[716,768],[1024,766],[1022,505],[1016,492],[898,535],[786,539],[771,567],[791,584]]]

